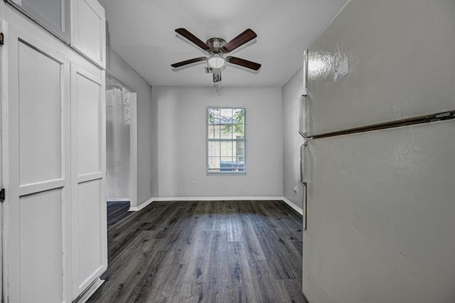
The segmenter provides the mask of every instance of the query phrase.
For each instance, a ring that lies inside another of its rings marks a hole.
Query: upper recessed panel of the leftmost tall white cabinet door
[[[62,178],[62,76],[60,62],[19,41],[21,185]]]

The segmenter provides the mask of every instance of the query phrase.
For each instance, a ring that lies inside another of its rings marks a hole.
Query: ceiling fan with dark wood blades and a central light
[[[240,48],[240,46],[243,46],[245,43],[248,43],[257,37],[256,33],[250,28],[240,33],[239,36],[233,38],[228,43],[226,43],[223,38],[210,38],[204,43],[198,37],[190,33],[186,28],[177,28],[176,33],[188,39],[188,41],[194,43],[196,46],[198,46],[198,48],[203,50],[204,53],[208,53],[208,57],[193,58],[190,60],[173,63],[171,64],[173,68],[181,68],[185,65],[198,63],[200,61],[207,61],[208,66],[205,68],[205,73],[213,73],[213,83],[215,84],[220,84],[221,70],[225,67],[226,63],[238,65],[242,68],[249,68],[250,70],[255,71],[261,68],[261,65],[259,63],[233,57],[232,55],[225,57],[225,54],[232,52],[232,50]]]

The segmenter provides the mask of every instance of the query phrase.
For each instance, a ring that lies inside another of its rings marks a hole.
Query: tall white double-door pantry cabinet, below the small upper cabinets
[[[107,268],[105,71],[0,3],[6,302],[72,302]]]

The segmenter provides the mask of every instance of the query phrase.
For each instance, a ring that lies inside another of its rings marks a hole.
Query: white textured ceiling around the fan
[[[282,86],[301,67],[301,55],[346,0],[151,1],[100,0],[106,9],[109,46],[151,85],[212,86],[204,64],[179,71],[171,63],[204,55],[176,37],[186,28],[202,41],[230,41],[247,28],[255,43],[235,56],[262,64],[259,73],[227,66],[223,86]]]

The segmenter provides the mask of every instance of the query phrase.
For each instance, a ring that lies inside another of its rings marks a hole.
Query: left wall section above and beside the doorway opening
[[[137,92],[137,206],[152,196],[151,86],[107,47],[107,73]],[[135,207],[135,205],[132,205]]]

